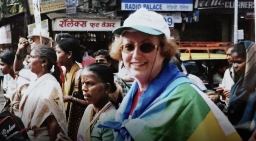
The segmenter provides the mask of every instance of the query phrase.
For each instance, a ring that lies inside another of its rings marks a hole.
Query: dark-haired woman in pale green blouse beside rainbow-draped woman
[[[110,91],[114,85],[111,69],[105,63],[89,64],[81,73],[83,95],[90,104],[83,113],[76,140],[113,141],[112,129],[98,128],[98,124],[115,119],[116,109],[109,101]],[[71,139],[60,134],[60,141]]]

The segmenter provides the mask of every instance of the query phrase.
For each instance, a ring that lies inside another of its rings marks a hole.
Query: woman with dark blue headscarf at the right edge
[[[243,140],[256,128],[256,46],[242,41],[232,50],[235,84],[229,97],[228,118]]]

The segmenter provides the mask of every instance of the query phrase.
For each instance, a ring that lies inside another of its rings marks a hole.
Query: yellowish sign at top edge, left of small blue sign
[[[39,1],[40,13],[48,13],[52,11],[62,10],[66,8],[65,0]],[[34,14],[33,1],[29,1],[30,14]]]

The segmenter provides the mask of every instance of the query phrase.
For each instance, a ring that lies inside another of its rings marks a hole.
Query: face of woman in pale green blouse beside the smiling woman
[[[102,85],[95,73],[83,70],[81,73],[81,82],[84,99],[89,104],[95,105],[108,98],[108,90]]]

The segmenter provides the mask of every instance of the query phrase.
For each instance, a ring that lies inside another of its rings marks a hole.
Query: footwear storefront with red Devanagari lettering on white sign
[[[70,33],[81,45],[97,51],[108,49],[113,34],[120,27],[120,19],[110,19],[94,13],[76,13],[72,16],[65,13],[48,13],[52,19],[52,37],[58,33]]]

